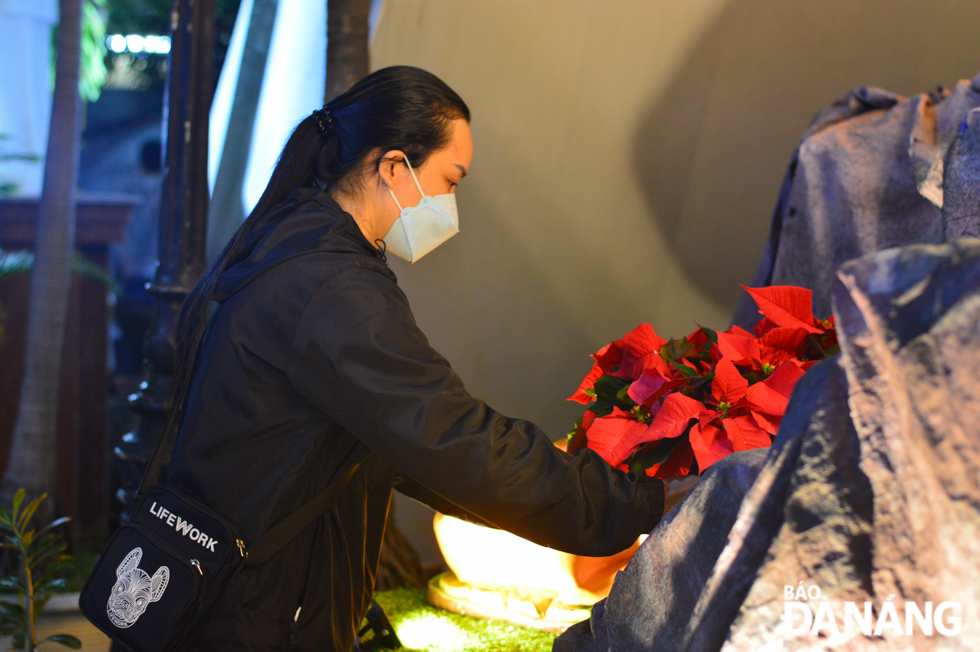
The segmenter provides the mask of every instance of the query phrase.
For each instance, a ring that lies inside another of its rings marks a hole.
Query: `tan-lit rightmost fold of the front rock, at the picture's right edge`
[[[980,649],[980,241],[909,247],[838,275],[850,407],[874,489],[874,593],[963,605]],[[857,648],[855,648],[857,649]]]

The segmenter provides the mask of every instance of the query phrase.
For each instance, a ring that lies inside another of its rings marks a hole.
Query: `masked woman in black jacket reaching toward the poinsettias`
[[[350,650],[393,487],[586,555],[661,518],[661,481],[562,453],[473,398],[416,326],[385,248],[417,260],[455,233],[472,156],[469,109],[443,82],[369,75],[297,126],[185,302],[175,386],[190,388],[170,484],[250,542],[367,453],[334,505],[222,592],[194,649]]]

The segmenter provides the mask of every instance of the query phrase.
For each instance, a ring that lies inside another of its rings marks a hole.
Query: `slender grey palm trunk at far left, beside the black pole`
[[[54,496],[58,484],[58,390],[71,289],[75,187],[81,141],[82,101],[78,79],[83,1],[59,2],[61,20],[54,103],[31,273],[24,378],[17,425],[0,490],[3,504],[9,504],[19,487],[27,490],[30,500],[42,493]],[[53,500],[43,505],[54,510]]]

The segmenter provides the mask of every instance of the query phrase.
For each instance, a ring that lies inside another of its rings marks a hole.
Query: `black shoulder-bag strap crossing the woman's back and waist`
[[[219,304],[217,302],[212,302],[211,304],[211,317],[208,319],[208,325],[204,329],[204,334],[201,336],[202,342],[204,341],[204,338],[207,337],[208,331],[211,330],[211,324],[214,322],[214,316],[218,312],[218,305]],[[151,487],[160,484],[160,473],[163,471],[164,461],[171,455],[174,445],[176,444],[177,431],[180,429],[180,422],[184,414],[184,399],[187,396],[187,390],[190,385],[191,382],[188,381],[180,389],[177,396],[174,397],[174,404],[170,409],[170,414],[167,416],[166,424],[163,427],[163,433],[160,435],[160,441],[157,442],[156,450],[153,451],[153,457],[150,458],[150,463],[147,464],[146,471],[143,473],[143,478],[140,480],[140,486],[136,490],[137,498],[143,495],[143,493]],[[332,482],[326,489],[303,503],[303,505],[289,514],[289,516],[276,523],[274,526],[272,526],[272,528],[259,535],[259,538],[255,540],[255,543],[246,549],[245,565],[258,566],[259,564],[268,561],[274,554],[279,552],[283,546],[302,532],[307,525],[312,523],[314,519],[316,519],[323,512],[327,511],[327,507],[329,507],[330,503],[337,499],[344,487],[346,487],[347,484],[354,478],[354,475],[357,473],[357,469],[361,466],[361,462],[363,462],[369,454],[370,451],[365,451],[357,462],[347,469],[347,471],[344,472],[344,475],[342,475],[339,479]]]

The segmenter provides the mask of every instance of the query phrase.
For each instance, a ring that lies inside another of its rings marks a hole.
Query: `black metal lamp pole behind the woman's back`
[[[115,449],[124,504],[153,454],[170,411],[174,329],[180,304],[207,266],[208,116],[213,84],[215,0],[173,0],[164,95],[163,197],[159,261],[153,282],[153,321],[145,345],[147,378],[131,397],[140,426]]]

